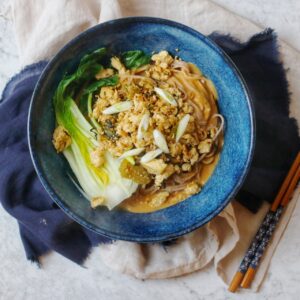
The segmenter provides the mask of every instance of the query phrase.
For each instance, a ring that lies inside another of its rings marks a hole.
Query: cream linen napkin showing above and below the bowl
[[[12,0],[11,7],[23,65],[50,58],[71,38],[97,23],[125,16],[173,19],[204,34],[221,30],[242,40],[261,31],[250,21],[206,0]],[[293,93],[291,115],[299,121],[300,103],[295,99],[300,98],[300,85],[297,84],[300,54],[283,42],[280,45]],[[278,226],[253,282],[253,290],[259,288],[264,278],[299,192],[298,189]],[[199,270],[213,260],[218,275],[228,284],[267,210],[268,205],[264,204],[260,212],[253,215],[233,202],[207,225],[178,239],[167,249],[157,244],[117,241],[101,245],[100,255],[109,267],[142,279],[180,276]]]

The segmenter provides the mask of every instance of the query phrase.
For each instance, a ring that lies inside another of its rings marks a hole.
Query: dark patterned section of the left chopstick
[[[247,272],[247,269],[250,266],[252,259],[254,258],[255,254],[256,254],[257,248],[259,247],[261,241],[263,240],[263,238],[266,234],[266,231],[269,229],[270,224],[272,223],[273,217],[274,217],[273,211],[269,211],[266,214],[262,224],[260,225],[252,243],[250,244],[250,246],[240,264],[239,271],[241,273]]]

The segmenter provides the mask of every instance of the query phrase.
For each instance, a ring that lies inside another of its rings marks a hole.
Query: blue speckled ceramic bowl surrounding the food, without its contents
[[[168,50],[196,64],[214,82],[219,108],[226,120],[224,147],[219,163],[201,193],[172,207],[146,214],[115,209],[91,209],[67,173],[63,156],[52,143],[55,127],[52,97],[66,72],[80,58],[99,47],[111,53],[141,49]],[[28,121],[28,138],[37,174],[66,214],[81,225],[107,237],[136,242],[176,238],[211,220],[241,186],[253,153],[254,120],[251,100],[239,71],[211,40],[184,25],[156,18],[125,18],[97,25],[69,42],[50,61],[35,88]]]

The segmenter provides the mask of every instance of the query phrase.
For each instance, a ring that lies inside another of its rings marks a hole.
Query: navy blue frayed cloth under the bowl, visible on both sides
[[[214,33],[241,70],[254,99],[257,146],[252,169],[239,195],[255,211],[261,199],[271,201],[299,150],[295,120],[288,117],[289,94],[279,62],[276,36],[266,30],[240,43]],[[91,248],[111,242],[71,220],[52,202],[39,182],[27,144],[27,116],[35,84],[46,66],[26,67],[7,84],[0,103],[0,201],[18,221],[28,259],[54,250],[81,264]],[[242,197],[243,196],[243,197]],[[5,229],[4,229],[5,230]]]

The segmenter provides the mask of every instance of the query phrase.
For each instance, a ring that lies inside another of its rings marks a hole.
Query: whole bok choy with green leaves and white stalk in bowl
[[[118,83],[117,75],[100,80],[95,78],[95,75],[103,69],[101,61],[105,55],[104,48],[85,55],[77,70],[60,81],[53,103],[57,124],[62,126],[72,139],[71,145],[63,150],[63,154],[84,194],[89,200],[95,197],[105,198],[104,205],[112,209],[131,196],[138,184],[121,176],[119,171],[121,161],[113,158],[108,152],[105,153],[105,162],[100,167],[95,167],[91,162],[90,153],[99,146],[94,131],[100,127],[91,115],[92,93],[103,86],[113,86]],[[82,99],[86,99],[91,123],[75,102],[78,86],[84,90]]]

